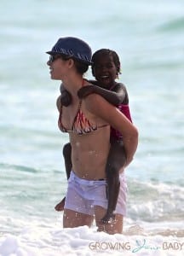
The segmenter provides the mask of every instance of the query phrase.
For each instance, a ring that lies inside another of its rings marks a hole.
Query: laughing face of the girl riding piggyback
[[[105,89],[110,89],[118,73],[112,55],[100,55],[95,61],[93,70],[98,85]]]

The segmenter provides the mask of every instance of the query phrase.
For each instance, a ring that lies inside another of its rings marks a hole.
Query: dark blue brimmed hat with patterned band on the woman
[[[57,41],[57,43],[53,46],[53,48],[50,51],[47,51],[46,53],[49,55],[68,55],[88,65],[92,64],[92,52],[89,47],[89,44],[85,43],[83,40],[79,38],[60,38]]]

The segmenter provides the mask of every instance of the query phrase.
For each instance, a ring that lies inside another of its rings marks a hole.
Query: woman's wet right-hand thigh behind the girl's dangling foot
[[[124,216],[121,214],[116,214],[115,219],[112,223],[102,223],[101,218],[106,213],[106,209],[103,207],[95,206],[95,222],[98,227],[97,231],[104,231],[110,235],[122,234],[123,232],[123,222]]]

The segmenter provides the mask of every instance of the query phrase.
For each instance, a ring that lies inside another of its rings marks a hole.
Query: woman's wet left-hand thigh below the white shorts
[[[75,228],[79,226],[91,226],[94,216],[75,212],[69,209],[64,210],[63,214],[63,228]]]

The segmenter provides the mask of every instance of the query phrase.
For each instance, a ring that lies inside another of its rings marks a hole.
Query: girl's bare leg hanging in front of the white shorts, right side
[[[102,223],[111,222],[115,215],[113,211],[116,208],[119,191],[119,170],[125,163],[124,145],[121,141],[111,143],[111,148],[106,162],[106,181],[107,181],[107,199],[108,206],[105,215],[101,218]]]

